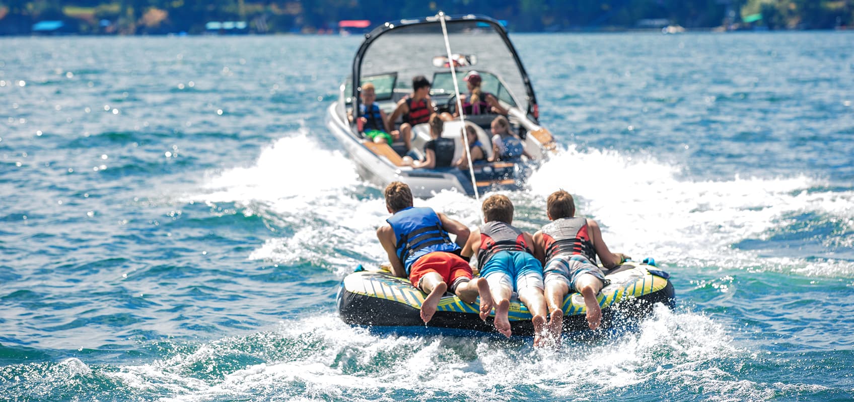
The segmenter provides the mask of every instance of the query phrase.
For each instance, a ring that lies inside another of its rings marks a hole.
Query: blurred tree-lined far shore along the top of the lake
[[[28,33],[26,26],[38,20],[80,24],[84,33],[200,33],[207,22],[223,20],[246,21],[249,32],[316,32],[335,29],[339,20],[378,24],[440,9],[490,15],[508,21],[511,31],[527,32],[654,27],[648,21],[688,29],[828,29],[854,23],[854,0],[0,0],[0,34]]]

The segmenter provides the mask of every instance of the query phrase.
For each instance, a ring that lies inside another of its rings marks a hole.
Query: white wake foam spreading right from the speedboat
[[[652,155],[570,147],[535,172],[529,187],[543,199],[559,188],[576,195],[578,212],[605,226],[611,249],[676,265],[773,268],[779,261],[732,246],[786,230],[793,214],[835,217],[854,231],[854,191],[824,189],[815,178],[692,181],[680,174]],[[836,267],[830,271],[854,274],[854,262],[829,264]]]

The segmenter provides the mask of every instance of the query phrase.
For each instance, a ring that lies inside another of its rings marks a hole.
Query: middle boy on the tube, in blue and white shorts
[[[508,313],[515,291],[533,316],[534,345],[542,346],[547,313],[542,265],[534,256],[533,237],[512,226],[512,221],[510,199],[506,195],[490,195],[483,201],[484,224],[471,231],[462,255],[465,258],[477,253],[480,275],[486,278],[492,293],[492,306],[486,305],[481,294],[481,318],[494,306],[495,329],[509,337],[512,330]]]

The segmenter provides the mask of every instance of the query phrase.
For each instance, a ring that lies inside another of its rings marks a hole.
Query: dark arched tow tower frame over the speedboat
[[[521,79],[521,84],[524,87],[525,94],[524,97],[519,98],[521,94],[512,94],[512,96],[517,96],[516,103],[520,101],[523,103],[523,109],[525,114],[528,115],[528,118],[531,119],[535,124],[538,124],[537,116],[536,116],[536,96],[534,94],[534,88],[530,83],[530,79],[528,77],[528,73],[525,71],[525,68],[522,64],[522,60],[519,58],[518,52],[516,48],[513,46],[510,38],[507,36],[507,31],[504,26],[500,24],[499,21],[494,20],[485,15],[434,15],[430,17],[418,18],[418,19],[405,19],[405,20],[395,20],[384,23],[381,26],[375,27],[371,32],[365,34],[365,40],[362,42],[359,50],[356,51],[356,55],[353,59],[353,69],[350,77],[351,84],[348,85],[351,93],[349,94],[350,100],[353,104],[353,110],[360,110],[360,90],[361,90],[361,74],[362,74],[362,63],[365,61],[365,55],[368,49],[371,48],[371,44],[377,41],[378,38],[382,38],[383,35],[393,32],[395,29],[399,29],[401,27],[407,26],[419,26],[429,28],[430,26],[440,26],[442,21],[440,18],[445,19],[445,24],[447,26],[453,26],[454,24],[471,24],[476,23],[478,27],[490,27],[494,34],[497,34],[503,43],[506,45],[506,51],[512,55],[512,60],[515,62],[516,67],[518,68],[518,73]],[[441,28],[436,28],[441,29]],[[453,46],[453,43],[452,43]],[[452,47],[453,50],[453,47]],[[458,74],[465,74],[465,70],[477,70],[477,66],[465,66],[465,67],[457,67]],[[461,78],[458,78],[461,79]],[[401,80],[398,80],[398,85],[402,84]],[[465,87],[463,87],[465,90]],[[348,94],[344,94],[347,96]],[[527,105],[524,105],[527,103]],[[358,114],[358,112],[356,113]]]

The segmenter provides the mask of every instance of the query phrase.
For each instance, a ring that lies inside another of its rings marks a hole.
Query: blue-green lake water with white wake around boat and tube
[[[569,190],[674,310],[559,352],[351,328],[359,38],[0,38],[0,399],[854,399],[854,35],[512,39],[561,149],[515,223]]]

